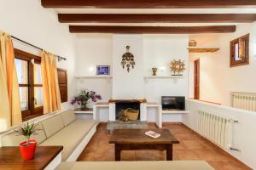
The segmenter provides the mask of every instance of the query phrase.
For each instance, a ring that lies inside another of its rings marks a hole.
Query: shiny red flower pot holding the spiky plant
[[[29,144],[27,141],[20,143],[20,154],[25,161],[32,160],[35,156],[35,151],[37,148],[37,141],[34,139],[29,139]]]

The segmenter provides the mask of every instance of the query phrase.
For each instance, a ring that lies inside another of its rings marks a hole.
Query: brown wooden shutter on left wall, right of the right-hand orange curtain
[[[67,102],[67,71],[58,68],[58,82],[61,93],[61,102]]]

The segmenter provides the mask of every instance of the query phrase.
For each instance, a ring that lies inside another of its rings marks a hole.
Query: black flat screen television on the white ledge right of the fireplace
[[[162,109],[185,111],[185,97],[162,96]]]

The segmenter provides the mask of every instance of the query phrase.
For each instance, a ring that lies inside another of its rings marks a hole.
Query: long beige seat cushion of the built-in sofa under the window
[[[65,161],[94,125],[95,121],[77,119],[40,145],[62,145],[62,161]]]

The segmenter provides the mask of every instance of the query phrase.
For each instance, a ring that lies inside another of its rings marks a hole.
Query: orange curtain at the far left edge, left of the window
[[[20,93],[11,37],[0,31],[0,131],[22,122]]]

